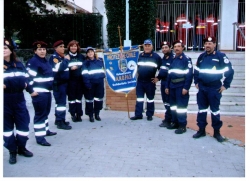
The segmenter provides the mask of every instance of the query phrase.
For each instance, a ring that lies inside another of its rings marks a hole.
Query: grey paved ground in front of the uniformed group
[[[33,118],[30,99],[27,105]],[[131,121],[127,112],[109,110],[101,112],[100,122],[83,116],[83,122],[71,122],[72,130],[58,130],[52,110],[50,130],[57,135],[46,138],[52,146],[36,144],[31,123],[27,148],[34,157],[18,156],[10,165],[4,148],[3,177],[246,177],[240,140],[219,143],[209,134],[193,139],[197,127],[176,135],[158,126],[161,115]]]

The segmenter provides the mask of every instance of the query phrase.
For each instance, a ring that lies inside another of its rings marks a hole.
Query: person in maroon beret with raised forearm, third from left
[[[66,121],[66,100],[69,80],[69,60],[64,57],[64,42],[58,40],[53,44],[54,54],[49,58],[54,73],[53,95],[55,105],[55,125],[58,129],[70,130],[72,127]]]

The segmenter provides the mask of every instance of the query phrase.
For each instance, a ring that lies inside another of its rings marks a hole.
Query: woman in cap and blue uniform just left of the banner
[[[92,47],[86,49],[86,60],[82,67],[82,77],[85,86],[85,114],[89,116],[89,121],[101,121],[100,111],[103,108],[104,97],[104,63],[102,58],[98,58]]]

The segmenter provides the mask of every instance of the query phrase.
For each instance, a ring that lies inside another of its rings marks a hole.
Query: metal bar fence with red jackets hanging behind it
[[[168,0],[158,1],[155,47],[160,49],[162,41],[182,40],[187,50],[203,50],[203,38],[214,36],[219,39],[219,0]],[[239,21],[244,21],[245,2],[239,2]],[[238,44],[245,40],[237,35]],[[242,46],[241,46],[242,47]]]

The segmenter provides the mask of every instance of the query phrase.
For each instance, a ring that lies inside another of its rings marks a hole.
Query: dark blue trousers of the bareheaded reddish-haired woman
[[[68,103],[71,116],[83,115],[82,111],[83,82],[81,80],[70,80],[68,83]]]

